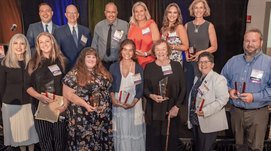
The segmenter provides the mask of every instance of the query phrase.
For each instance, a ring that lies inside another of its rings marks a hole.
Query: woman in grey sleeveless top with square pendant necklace
[[[186,78],[186,98],[183,105],[188,106],[189,92],[192,89],[193,81],[198,75],[198,56],[202,52],[213,53],[217,51],[217,36],[215,28],[211,22],[206,21],[203,17],[210,15],[210,8],[206,0],[194,0],[189,6],[190,16],[195,17],[193,21],[185,24],[185,29],[188,35],[189,47],[196,48],[196,54],[189,58],[188,52],[185,52],[184,72]],[[209,42],[211,46],[209,47]]]

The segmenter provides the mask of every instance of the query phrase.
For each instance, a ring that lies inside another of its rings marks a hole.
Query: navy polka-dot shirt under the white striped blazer
[[[202,77],[201,78],[201,73],[199,75],[197,75],[198,77],[198,80],[197,82],[194,84],[192,90],[191,90],[191,104],[190,104],[190,114],[189,114],[189,120],[191,122],[191,124],[194,124],[194,125],[199,125],[199,118],[198,118],[198,115],[191,111],[192,109],[195,110],[195,106],[194,106],[194,101],[196,100],[196,97],[197,97],[197,94],[198,94],[198,88],[199,86],[201,86],[203,80],[205,79],[206,76]],[[195,99],[194,99],[195,98]]]

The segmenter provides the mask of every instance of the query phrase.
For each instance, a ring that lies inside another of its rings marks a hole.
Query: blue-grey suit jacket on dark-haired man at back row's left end
[[[54,33],[54,29],[56,29],[57,27],[59,27],[59,26],[57,26],[56,24],[53,23],[52,35]],[[27,40],[29,42],[31,55],[33,55],[34,52],[35,52],[35,44],[36,44],[38,34],[40,34],[42,32],[44,32],[44,28],[43,28],[43,25],[42,25],[41,21],[29,25],[29,28],[27,30],[26,38],[27,38]]]

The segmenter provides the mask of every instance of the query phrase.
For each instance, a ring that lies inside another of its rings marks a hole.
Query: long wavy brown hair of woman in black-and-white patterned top
[[[164,29],[167,28],[167,27],[169,27],[169,19],[167,18],[167,14],[169,13],[169,8],[171,6],[176,7],[177,8],[177,12],[178,12],[178,17],[177,17],[176,21],[172,24],[172,26],[169,29],[170,32],[174,32],[179,24],[183,24],[182,13],[181,13],[180,7],[176,3],[171,3],[171,4],[169,4],[167,6],[167,8],[165,10],[165,13],[164,13],[162,25],[163,25]]]

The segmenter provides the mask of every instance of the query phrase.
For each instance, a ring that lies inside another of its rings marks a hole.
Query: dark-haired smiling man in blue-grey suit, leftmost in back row
[[[52,16],[54,12],[52,11],[52,8],[50,5],[46,3],[41,3],[39,6],[39,14],[40,14],[40,22],[30,24],[29,28],[27,30],[26,38],[29,42],[31,55],[35,52],[35,44],[38,34],[42,32],[49,32],[51,34],[54,33],[54,29],[56,29],[57,25],[53,24],[52,22]]]

